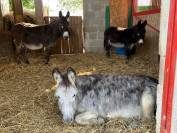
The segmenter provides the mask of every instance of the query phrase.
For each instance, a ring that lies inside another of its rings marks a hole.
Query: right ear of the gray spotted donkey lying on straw
[[[69,67],[67,70],[67,76],[68,76],[68,80],[70,81],[70,83],[72,85],[75,85],[75,81],[76,81],[76,71]]]

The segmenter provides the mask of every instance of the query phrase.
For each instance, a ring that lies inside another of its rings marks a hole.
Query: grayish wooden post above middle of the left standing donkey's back
[[[42,0],[34,0],[35,2],[35,15],[36,15],[36,21],[37,24],[43,24],[44,18],[43,18],[43,3]]]

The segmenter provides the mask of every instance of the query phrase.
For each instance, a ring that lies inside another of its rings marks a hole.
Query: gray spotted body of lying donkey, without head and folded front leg
[[[92,75],[77,79],[80,106],[103,117],[151,117],[157,83],[145,76]]]

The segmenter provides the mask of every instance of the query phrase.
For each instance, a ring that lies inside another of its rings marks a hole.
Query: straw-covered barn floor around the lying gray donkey
[[[117,119],[102,125],[66,125],[57,109],[51,71],[65,72],[73,67],[77,73],[143,74],[158,78],[157,46],[146,43],[138,48],[128,64],[125,58],[104,54],[53,55],[42,63],[41,54],[30,54],[30,65],[17,65],[0,58],[0,132],[22,133],[145,133],[155,132],[155,120]],[[153,52],[152,52],[153,51]]]

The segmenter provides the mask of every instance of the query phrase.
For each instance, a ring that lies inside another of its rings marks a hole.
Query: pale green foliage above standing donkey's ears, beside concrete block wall
[[[72,12],[83,8],[83,0],[58,0],[58,2],[63,8]]]

